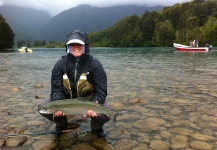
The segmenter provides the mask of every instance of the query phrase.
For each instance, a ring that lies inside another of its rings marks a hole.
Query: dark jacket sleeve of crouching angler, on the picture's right
[[[107,96],[107,75],[102,64],[97,59],[94,59],[92,69],[92,81],[94,86],[92,101],[98,101],[100,104],[103,104]]]

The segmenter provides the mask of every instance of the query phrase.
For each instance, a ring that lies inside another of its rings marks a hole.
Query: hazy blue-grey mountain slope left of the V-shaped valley
[[[41,39],[39,29],[51,19],[45,11],[10,5],[0,6],[0,14],[15,32],[15,40],[25,41]]]

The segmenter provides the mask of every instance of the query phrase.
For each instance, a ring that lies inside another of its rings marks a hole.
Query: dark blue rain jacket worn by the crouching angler
[[[92,101],[98,101],[100,104],[104,103],[107,96],[107,76],[100,61],[88,53],[89,51],[86,51],[79,60],[73,55],[68,54],[65,56],[67,57],[67,61],[64,61],[65,58],[63,57],[56,62],[51,77],[51,101],[67,98],[63,89],[63,74],[65,73],[65,69],[71,84],[73,98],[77,98],[77,82],[82,74],[85,62],[88,61],[87,80],[94,87]],[[77,71],[76,77],[75,71]]]

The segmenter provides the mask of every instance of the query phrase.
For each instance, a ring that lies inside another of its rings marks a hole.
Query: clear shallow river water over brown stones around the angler
[[[28,149],[217,149],[217,53],[173,48],[92,48],[108,76],[107,100],[120,113],[107,123],[107,141],[63,135],[22,137]],[[52,131],[37,113],[49,96],[51,70],[64,49],[0,53],[0,133]],[[43,88],[35,88],[42,84]],[[89,123],[80,128],[89,130]],[[4,140],[2,140],[4,139]],[[0,139],[14,147],[16,137]],[[67,142],[66,140],[67,139]],[[41,145],[41,146],[40,146]]]

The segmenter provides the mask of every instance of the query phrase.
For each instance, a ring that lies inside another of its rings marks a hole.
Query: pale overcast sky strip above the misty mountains
[[[139,6],[170,6],[176,3],[190,2],[191,0],[0,0],[0,5],[9,4],[13,6],[29,7],[47,10],[54,16],[63,10],[67,10],[79,4],[89,4],[91,6],[106,7],[124,4],[136,4]]]

